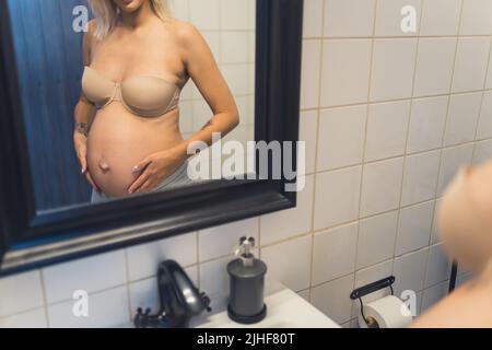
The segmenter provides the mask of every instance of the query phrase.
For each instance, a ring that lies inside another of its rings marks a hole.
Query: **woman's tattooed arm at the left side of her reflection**
[[[92,25],[90,23],[89,31],[84,35],[83,40],[83,63],[84,66],[91,65],[91,42],[92,42]],[[87,136],[91,129],[92,121],[94,120],[94,116],[96,113],[96,108],[94,104],[92,104],[83,93],[81,93],[79,102],[75,105],[74,115],[74,130],[73,130],[73,145],[77,152],[77,156],[79,159],[79,163],[81,166],[82,174],[85,175],[85,178],[91,184],[91,186],[101,191],[95,182],[93,180],[91,174],[87,168]]]

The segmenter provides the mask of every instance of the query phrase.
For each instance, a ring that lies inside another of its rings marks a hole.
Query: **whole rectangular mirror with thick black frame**
[[[302,9],[2,1],[0,275],[295,206]]]

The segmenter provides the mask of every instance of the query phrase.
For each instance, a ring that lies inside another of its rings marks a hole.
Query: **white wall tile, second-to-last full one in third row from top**
[[[413,100],[407,152],[422,152],[443,144],[448,96]]]

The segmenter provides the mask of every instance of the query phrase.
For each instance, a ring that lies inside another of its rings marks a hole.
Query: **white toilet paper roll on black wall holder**
[[[376,322],[372,327],[405,328],[411,324],[413,317],[408,306],[398,298],[388,295],[364,305],[366,319]],[[368,328],[362,315],[359,315],[359,326]]]

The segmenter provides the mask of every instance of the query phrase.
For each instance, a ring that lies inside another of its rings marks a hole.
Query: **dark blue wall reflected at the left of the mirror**
[[[37,208],[86,202],[90,187],[72,144],[83,37],[72,30],[72,11],[86,1],[8,1]]]

